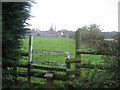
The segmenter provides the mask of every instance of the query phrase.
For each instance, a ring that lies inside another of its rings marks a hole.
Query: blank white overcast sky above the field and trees
[[[103,31],[118,31],[120,0],[35,0],[31,8],[30,28],[75,31],[84,25],[97,24]]]

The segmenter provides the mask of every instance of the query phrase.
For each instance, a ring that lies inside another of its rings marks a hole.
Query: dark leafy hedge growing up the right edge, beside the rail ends
[[[99,52],[111,54],[111,56],[104,55],[102,57],[103,63],[109,65],[111,69],[107,70],[109,80],[107,87],[120,86],[120,38],[118,36],[113,41],[96,41],[93,47]],[[104,75],[105,76],[105,75]],[[106,82],[105,80],[103,80]]]

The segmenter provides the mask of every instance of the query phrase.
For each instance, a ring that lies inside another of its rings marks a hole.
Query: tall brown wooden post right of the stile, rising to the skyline
[[[77,53],[77,50],[80,49],[80,31],[76,31],[76,50],[75,50],[75,58],[81,61],[81,55]],[[80,63],[75,63],[75,70],[80,72]],[[80,77],[81,73],[75,74],[75,78]]]

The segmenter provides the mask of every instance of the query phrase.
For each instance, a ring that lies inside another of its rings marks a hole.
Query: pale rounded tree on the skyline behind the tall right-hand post
[[[96,24],[84,26],[83,28],[79,28],[78,30],[81,32],[81,40],[85,43],[104,39],[104,35],[101,32],[102,30]]]

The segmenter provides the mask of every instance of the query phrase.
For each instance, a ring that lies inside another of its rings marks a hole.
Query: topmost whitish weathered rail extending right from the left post
[[[68,55],[70,52],[49,51],[49,50],[33,50],[33,53],[49,53],[49,54],[63,54]]]

